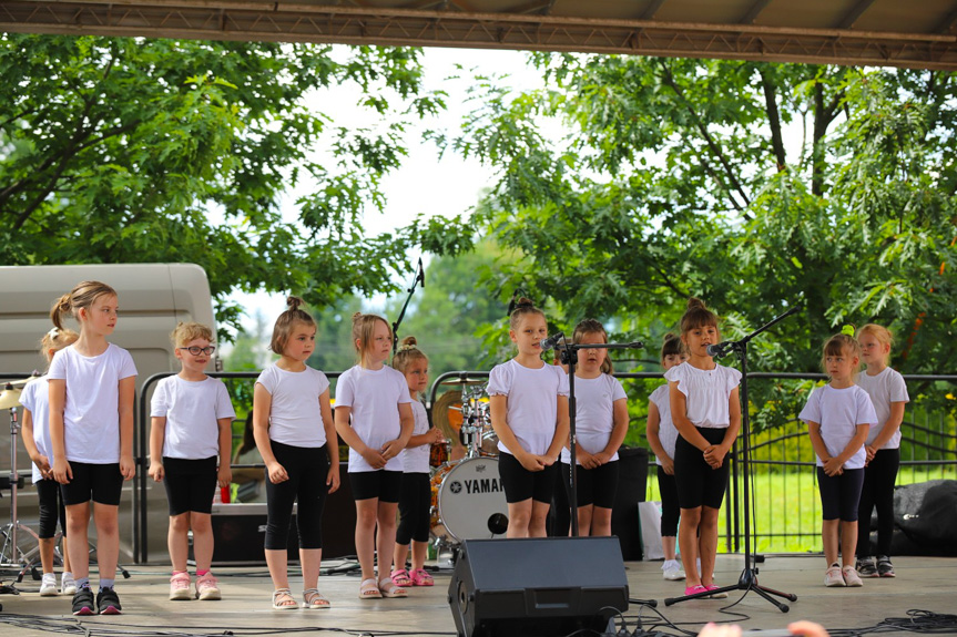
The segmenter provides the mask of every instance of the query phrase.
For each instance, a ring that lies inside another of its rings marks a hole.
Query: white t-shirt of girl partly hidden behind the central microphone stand
[[[598,453],[608,446],[611,430],[614,429],[614,401],[622,399],[628,399],[628,395],[613,376],[574,377],[574,440],[580,449]],[[581,464],[578,456],[574,460],[576,464]],[[614,460],[618,460],[617,451],[609,462]],[[561,461],[571,464],[568,448],[561,448]]]

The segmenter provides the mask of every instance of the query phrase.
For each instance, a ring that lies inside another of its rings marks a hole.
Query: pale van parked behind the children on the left
[[[40,355],[40,338],[52,326],[50,307],[60,296],[83,280],[102,281],[116,290],[120,322],[110,341],[133,356],[136,378],[138,405],[143,382],[154,373],[179,371],[173,356],[170,332],[180,321],[195,320],[213,328],[212,296],[206,273],[192,264],[118,264],[83,266],[0,266],[0,382],[18,380],[33,371],[44,371],[45,359]],[[65,325],[77,329],[73,319]],[[155,387],[155,386],[153,386]],[[150,389],[149,393],[152,393]],[[146,397],[149,399],[149,395]],[[9,412],[0,413],[0,472],[7,473],[10,464]],[[147,424],[139,422],[138,431],[149,436]],[[139,438],[138,438],[139,441]],[[18,440],[17,469],[26,475],[27,487],[19,492],[18,517],[28,525],[37,521],[37,492],[30,483],[30,459]],[[134,455],[136,448],[134,446]],[[138,466],[138,473],[145,468]],[[139,481],[138,476],[138,481]],[[120,507],[121,559],[133,555],[133,482],[124,485]],[[9,491],[0,499],[0,525],[10,521]],[[167,520],[165,493],[162,486],[147,484],[146,510],[150,513],[150,553],[165,555],[165,524]],[[155,520],[154,520],[155,518]],[[156,526],[161,521],[162,525]],[[161,531],[162,530],[162,531]],[[91,534],[94,533],[91,526]],[[19,540],[19,538],[18,538]],[[32,536],[29,538],[31,540]],[[29,545],[21,547],[29,551]],[[29,543],[28,543],[29,544]]]

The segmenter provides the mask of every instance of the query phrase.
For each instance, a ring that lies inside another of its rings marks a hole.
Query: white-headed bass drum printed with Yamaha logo
[[[497,458],[469,458],[432,476],[431,532],[449,542],[489,540],[508,530]]]

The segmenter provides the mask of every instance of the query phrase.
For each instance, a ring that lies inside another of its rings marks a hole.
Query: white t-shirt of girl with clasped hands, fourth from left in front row
[[[352,408],[352,427],[366,446],[381,449],[401,435],[399,404],[413,402],[409,386],[398,371],[350,367],[336,382],[336,407]],[[390,458],[386,471],[403,471],[403,454]],[[349,473],[377,471],[356,450],[349,449]]]

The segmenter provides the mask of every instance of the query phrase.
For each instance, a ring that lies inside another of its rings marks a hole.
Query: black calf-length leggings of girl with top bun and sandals
[[[276,462],[289,479],[278,484],[266,477],[266,551],[285,551],[293,517],[293,503],[298,502],[296,525],[299,548],[323,547],[323,508],[329,487],[329,454],[326,444],[319,448],[293,446],[272,441]]]

